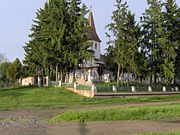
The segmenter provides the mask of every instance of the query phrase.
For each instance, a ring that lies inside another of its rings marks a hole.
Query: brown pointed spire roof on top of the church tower
[[[90,13],[89,13],[88,26],[90,27],[90,30],[87,33],[87,39],[88,40],[94,40],[94,41],[97,41],[97,42],[101,42],[99,36],[96,33],[96,27],[95,27],[95,24],[94,24],[94,18],[93,18],[92,11],[90,11]]]

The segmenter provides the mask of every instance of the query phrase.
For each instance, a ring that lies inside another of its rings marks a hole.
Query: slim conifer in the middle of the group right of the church
[[[161,49],[157,43],[157,28],[161,27],[162,21],[162,4],[159,0],[147,0],[149,8],[146,9],[141,24],[143,27],[143,48],[146,51],[146,57],[149,59],[151,80],[154,76],[156,83],[158,73],[160,73],[160,65],[162,64]]]

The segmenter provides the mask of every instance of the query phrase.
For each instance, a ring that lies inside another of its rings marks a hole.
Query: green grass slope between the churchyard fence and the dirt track
[[[114,105],[122,103],[141,103],[173,101],[178,96],[154,96],[134,98],[86,98],[64,88],[26,87],[0,90],[0,110],[25,108],[60,108],[82,105]]]

